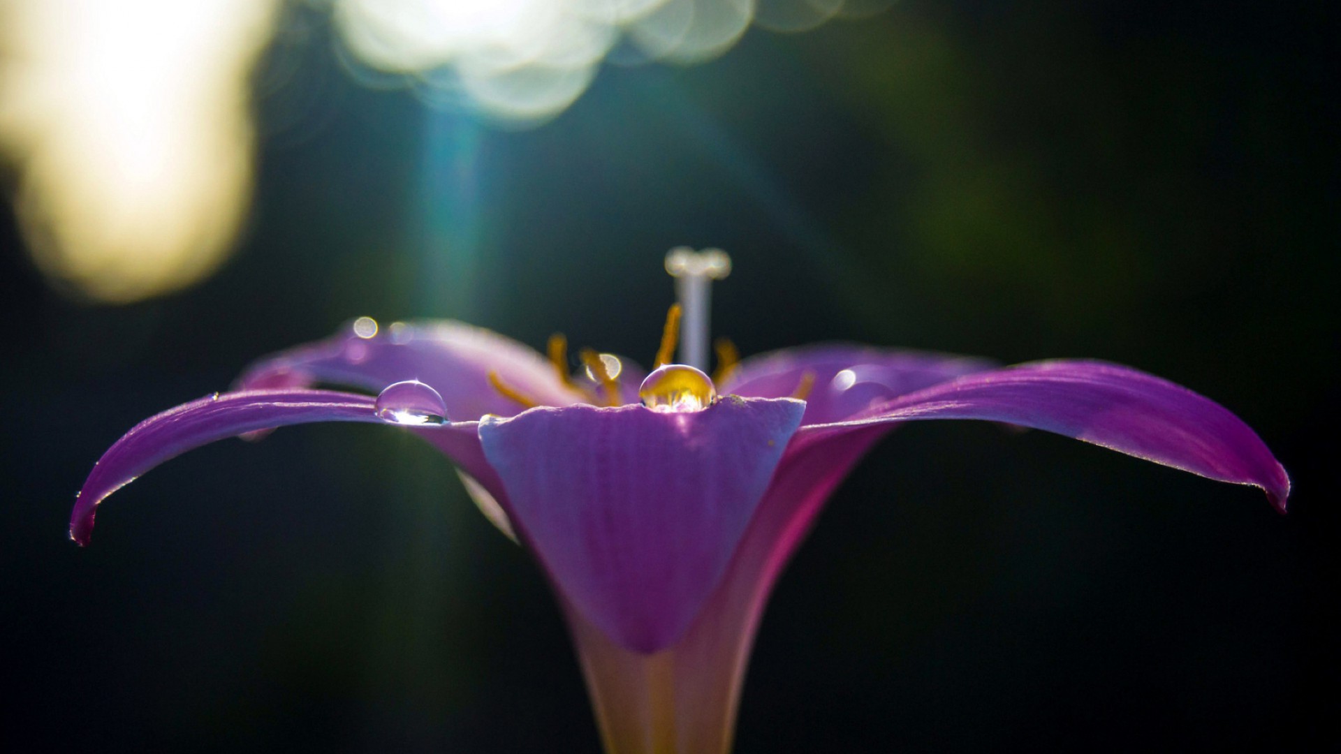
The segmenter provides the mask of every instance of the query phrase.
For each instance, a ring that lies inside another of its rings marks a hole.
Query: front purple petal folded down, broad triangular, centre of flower
[[[485,417],[480,441],[563,597],[650,653],[717,585],[803,411],[739,397],[691,413],[575,405]]]

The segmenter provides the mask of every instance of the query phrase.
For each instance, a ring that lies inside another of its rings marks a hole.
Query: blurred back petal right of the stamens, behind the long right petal
[[[723,394],[780,397],[810,382],[805,423],[825,424],[904,393],[995,368],[984,358],[822,343],[747,358],[717,389]]]

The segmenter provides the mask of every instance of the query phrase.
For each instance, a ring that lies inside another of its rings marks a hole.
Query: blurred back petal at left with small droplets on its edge
[[[418,380],[441,393],[453,420],[523,411],[526,407],[489,384],[489,372],[539,405],[586,400],[567,388],[539,353],[492,330],[452,321],[394,322],[371,337],[347,327],[325,341],[263,358],[243,373],[237,388],[333,382],[380,392],[392,382]]]

